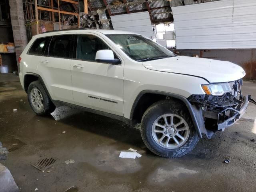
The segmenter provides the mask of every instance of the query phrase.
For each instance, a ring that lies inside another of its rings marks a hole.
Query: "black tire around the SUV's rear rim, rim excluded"
[[[34,105],[32,104],[30,93],[31,93],[31,90],[33,90],[33,88],[38,89],[40,91],[40,93],[42,94],[43,106],[40,110],[36,109],[34,107]],[[28,102],[29,102],[30,107],[32,108],[32,110],[37,115],[40,115],[40,116],[49,115],[52,112],[54,112],[54,110],[56,108],[55,105],[50,100],[48,94],[46,93],[46,90],[44,89],[44,87],[42,86],[40,81],[34,81],[34,82],[29,84],[29,86],[28,86]]]

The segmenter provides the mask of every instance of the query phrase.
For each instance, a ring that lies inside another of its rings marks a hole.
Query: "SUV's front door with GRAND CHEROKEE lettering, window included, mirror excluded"
[[[96,62],[96,52],[105,49],[110,47],[100,37],[78,35],[76,56],[71,65],[74,103],[123,116],[124,64]]]

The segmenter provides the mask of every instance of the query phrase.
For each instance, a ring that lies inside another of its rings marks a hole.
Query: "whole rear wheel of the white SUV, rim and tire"
[[[28,86],[28,102],[32,110],[41,116],[54,112],[56,108],[40,81],[34,81]]]

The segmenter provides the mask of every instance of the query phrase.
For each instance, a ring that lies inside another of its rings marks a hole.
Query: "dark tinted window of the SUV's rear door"
[[[53,36],[50,42],[49,56],[72,58],[72,35]]]

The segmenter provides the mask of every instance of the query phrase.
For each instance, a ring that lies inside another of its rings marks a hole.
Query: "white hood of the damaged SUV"
[[[196,57],[170,57],[142,65],[151,70],[202,77],[210,83],[235,81],[245,76],[243,68],[234,63]]]

